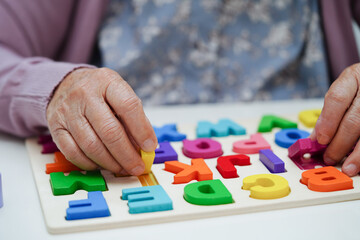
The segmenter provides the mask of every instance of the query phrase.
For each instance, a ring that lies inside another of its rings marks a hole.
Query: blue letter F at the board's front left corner
[[[100,191],[88,192],[88,199],[69,201],[66,220],[108,217],[109,207]]]

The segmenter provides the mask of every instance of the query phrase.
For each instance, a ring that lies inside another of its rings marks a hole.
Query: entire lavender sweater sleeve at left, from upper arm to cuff
[[[47,129],[46,107],[62,79],[86,64],[56,62],[74,2],[0,0],[0,131],[27,137]]]

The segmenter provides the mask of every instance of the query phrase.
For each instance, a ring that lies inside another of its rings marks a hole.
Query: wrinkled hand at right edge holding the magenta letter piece
[[[325,95],[324,107],[311,138],[329,144],[324,161],[335,165],[347,157],[342,171],[354,176],[360,171],[360,64],[345,69]]]

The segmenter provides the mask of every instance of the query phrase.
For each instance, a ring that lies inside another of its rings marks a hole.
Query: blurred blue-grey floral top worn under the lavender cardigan
[[[315,0],[113,0],[103,66],[145,105],[323,97]]]

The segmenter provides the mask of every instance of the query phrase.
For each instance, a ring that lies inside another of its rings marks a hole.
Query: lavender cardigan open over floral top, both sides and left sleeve
[[[359,61],[351,19],[360,1],[320,0],[332,80]],[[89,61],[107,1],[0,0],[0,130],[18,136],[47,128],[54,88]],[[353,17],[354,16],[354,17]]]

